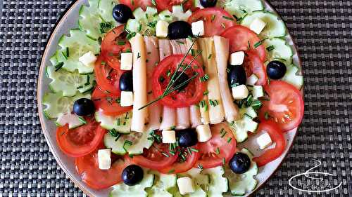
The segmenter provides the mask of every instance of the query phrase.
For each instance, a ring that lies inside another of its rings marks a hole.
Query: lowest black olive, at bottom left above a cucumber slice
[[[143,169],[139,165],[128,165],[123,169],[121,177],[123,182],[129,186],[138,184],[143,179]]]

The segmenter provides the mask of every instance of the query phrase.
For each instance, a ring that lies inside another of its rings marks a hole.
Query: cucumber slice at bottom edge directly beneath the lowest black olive
[[[134,197],[146,197],[148,196],[148,193],[146,193],[145,189],[148,187],[153,186],[154,184],[154,175],[149,174],[146,172],[144,169],[144,176],[142,181],[139,184],[136,184],[134,186],[128,186],[127,184],[124,184],[123,182],[120,184],[116,184],[113,186],[113,191],[110,192],[109,196],[110,197],[128,197],[128,196],[134,196]]]

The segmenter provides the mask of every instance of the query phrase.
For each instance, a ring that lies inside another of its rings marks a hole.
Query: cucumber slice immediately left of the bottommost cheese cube
[[[169,193],[172,187],[176,186],[176,175],[165,175],[158,171],[149,171],[154,175],[154,184],[152,187],[146,189],[149,197],[172,197]]]

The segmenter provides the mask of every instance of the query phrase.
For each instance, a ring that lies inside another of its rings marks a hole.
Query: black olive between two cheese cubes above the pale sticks
[[[170,39],[185,39],[192,36],[192,27],[182,20],[171,22],[168,26],[168,36]]]

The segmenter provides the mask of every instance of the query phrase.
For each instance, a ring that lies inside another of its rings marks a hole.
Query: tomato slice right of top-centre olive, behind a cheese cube
[[[222,8],[204,8],[192,13],[188,22],[203,20],[204,36],[210,37],[220,35],[225,29],[236,25],[232,15]]]

